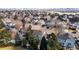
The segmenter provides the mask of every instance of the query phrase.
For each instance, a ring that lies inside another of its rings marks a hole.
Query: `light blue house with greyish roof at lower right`
[[[75,46],[75,39],[68,33],[58,36],[58,41],[64,49],[73,49]]]

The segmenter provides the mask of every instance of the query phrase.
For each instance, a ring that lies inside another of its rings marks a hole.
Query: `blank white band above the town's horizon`
[[[0,8],[78,8],[79,0],[0,0]]]

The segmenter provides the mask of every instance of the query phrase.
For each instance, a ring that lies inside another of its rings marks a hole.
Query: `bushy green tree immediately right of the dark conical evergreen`
[[[57,37],[54,33],[51,33],[48,35],[48,50],[59,50],[61,49],[61,46],[57,40]]]

